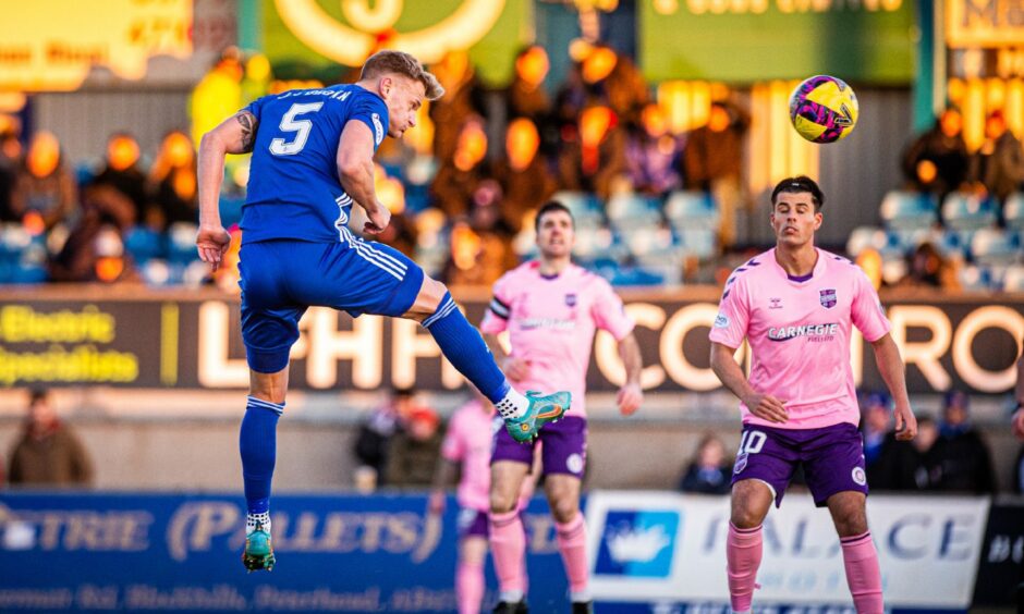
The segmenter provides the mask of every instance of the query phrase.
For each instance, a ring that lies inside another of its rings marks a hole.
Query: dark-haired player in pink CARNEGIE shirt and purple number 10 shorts
[[[711,368],[740,398],[743,415],[726,550],[737,613],[751,611],[761,523],[772,501],[781,504],[797,465],[815,505],[832,515],[857,612],[883,611],[865,509],[864,446],[850,366],[853,327],[871,344],[892,394],[897,439],[913,439],[917,422],[903,360],[875,288],[856,265],[814,245],[824,204],[809,177],[775,187],[769,220],[776,247],[733,271],[711,328]],[[744,337],[752,351],[749,379],[734,358]]]

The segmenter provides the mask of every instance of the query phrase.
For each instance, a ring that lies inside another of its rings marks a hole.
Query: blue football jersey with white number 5
[[[338,177],[338,140],[350,121],[387,135],[388,107],[357,85],[294,89],[246,109],[259,121],[242,208],[242,242],[344,241],[352,198]]]

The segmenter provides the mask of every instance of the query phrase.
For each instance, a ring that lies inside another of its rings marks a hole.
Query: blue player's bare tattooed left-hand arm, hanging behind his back
[[[215,271],[220,267],[228,244],[231,243],[231,235],[220,223],[224,156],[252,151],[258,124],[256,115],[242,110],[204,134],[199,140],[199,232],[196,233],[196,249],[199,258]]]

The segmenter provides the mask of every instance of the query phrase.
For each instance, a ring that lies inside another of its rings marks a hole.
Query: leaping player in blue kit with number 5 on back
[[[444,93],[419,62],[400,51],[371,56],[358,83],[302,89],[255,100],[199,144],[199,257],[216,271],[228,249],[218,208],[224,155],[252,151],[242,209],[242,340],[249,395],[240,450],[247,505],[242,561],[251,572],[275,564],[270,481],[278,418],[284,412],[289,351],[312,305],[409,318],[426,328],[444,357],[490,400],[509,431],[529,441],[569,408],[568,392],[515,391],[479,332],[444,284],[400,251],[350,231],[355,202],[363,234],[390,222],[374,189],[374,155],[385,135],[401,138],[423,100]]]

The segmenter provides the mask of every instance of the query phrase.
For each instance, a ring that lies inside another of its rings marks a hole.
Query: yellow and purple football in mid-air
[[[829,75],[804,79],[790,95],[793,127],[812,143],[845,138],[857,123],[857,109],[853,88]]]

